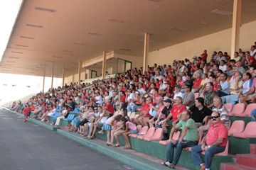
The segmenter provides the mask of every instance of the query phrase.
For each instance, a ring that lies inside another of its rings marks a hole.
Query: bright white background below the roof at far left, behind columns
[[[51,77],[46,77],[45,91],[50,89],[50,84]],[[58,86],[62,86],[62,79],[54,78],[53,87]],[[43,77],[0,73],[0,104],[38,94],[42,90]]]

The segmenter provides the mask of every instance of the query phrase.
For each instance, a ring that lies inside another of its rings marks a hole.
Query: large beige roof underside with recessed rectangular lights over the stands
[[[242,23],[255,21],[255,8],[242,1]],[[50,76],[54,62],[54,77],[63,67],[75,74],[103,50],[142,56],[144,33],[153,51],[231,28],[232,11],[232,0],[26,0],[0,72],[43,76],[46,66]]]

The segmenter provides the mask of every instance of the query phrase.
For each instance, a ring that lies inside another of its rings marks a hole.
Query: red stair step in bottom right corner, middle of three
[[[256,168],[256,154],[237,154],[235,163]]]

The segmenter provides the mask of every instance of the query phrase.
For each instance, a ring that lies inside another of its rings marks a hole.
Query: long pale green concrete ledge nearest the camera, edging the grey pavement
[[[108,147],[101,142],[97,142],[95,140],[85,140],[85,138],[80,137],[80,135],[74,134],[73,132],[67,132],[65,130],[58,129],[57,132],[65,137],[68,137],[76,142],[79,142],[82,145],[90,147],[92,149],[97,150],[97,152],[101,152],[102,154],[106,154],[109,157],[117,159],[119,162],[132,166],[134,169],[138,170],[167,170],[170,169],[168,167],[162,166],[161,164],[156,164],[155,162],[151,162],[148,159],[144,159],[142,157],[138,157],[137,155],[130,154],[128,152],[122,151],[122,149]]]

